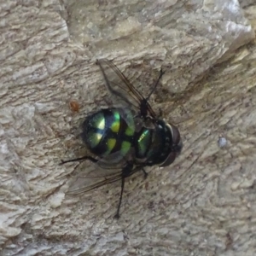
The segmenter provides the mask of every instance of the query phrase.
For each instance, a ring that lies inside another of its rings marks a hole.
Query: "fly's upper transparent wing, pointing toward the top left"
[[[141,93],[131,84],[131,82],[120,72],[113,62],[107,59],[97,60],[97,65],[101,68],[105,84],[113,97],[114,103],[134,109],[137,113],[149,113],[152,117],[156,117],[154,110],[148,104]]]

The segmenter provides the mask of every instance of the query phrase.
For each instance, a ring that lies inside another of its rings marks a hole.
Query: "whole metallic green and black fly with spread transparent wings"
[[[96,189],[102,185],[121,181],[118,210],[119,218],[125,178],[146,166],[169,166],[180,154],[183,144],[177,127],[154,113],[148,103],[163,75],[159,78],[147,97],[131,84],[112,61],[96,61],[102,71],[105,85],[113,99],[113,106],[90,113],[82,125],[82,139],[90,154],[73,160],[63,160],[62,164],[73,161],[90,160],[96,168],[85,176],[82,186],[70,189],[68,195]]]

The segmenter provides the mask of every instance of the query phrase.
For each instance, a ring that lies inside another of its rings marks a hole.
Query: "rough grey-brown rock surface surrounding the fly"
[[[0,2],[1,255],[256,255],[256,5],[241,2]],[[143,94],[166,70],[151,104],[184,144],[129,179],[118,221],[119,183],[67,197],[76,164],[58,166],[108,101],[102,57]]]

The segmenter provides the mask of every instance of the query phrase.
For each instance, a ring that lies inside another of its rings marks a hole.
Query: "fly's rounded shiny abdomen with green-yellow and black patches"
[[[106,108],[88,116],[82,137],[90,152],[99,157],[119,152],[119,157],[123,158],[131,149],[135,132],[130,115],[128,110]]]

